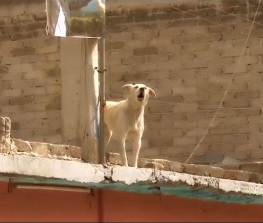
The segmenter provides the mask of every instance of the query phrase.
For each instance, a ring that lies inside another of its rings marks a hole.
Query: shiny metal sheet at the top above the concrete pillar
[[[103,37],[105,0],[46,0],[46,15],[50,35]]]

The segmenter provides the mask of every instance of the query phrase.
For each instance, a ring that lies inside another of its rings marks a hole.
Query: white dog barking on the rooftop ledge
[[[119,142],[122,165],[128,166],[125,141],[132,139],[133,155],[131,164],[137,167],[137,160],[141,146],[141,137],[144,133],[144,111],[149,96],[155,97],[153,89],[144,84],[127,84],[122,87],[126,100],[121,102],[106,102],[104,107],[105,146],[108,145],[112,134]]]

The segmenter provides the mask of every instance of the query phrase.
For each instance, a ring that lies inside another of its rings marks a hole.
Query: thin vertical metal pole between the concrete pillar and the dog
[[[105,163],[104,144],[104,106],[105,106],[105,39],[100,38],[98,43],[99,57],[99,102],[100,102],[100,128],[99,128],[99,163]]]

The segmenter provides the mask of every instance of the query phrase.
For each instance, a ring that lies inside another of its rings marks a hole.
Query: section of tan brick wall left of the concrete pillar
[[[60,143],[60,39],[45,26],[45,1],[0,2],[0,115],[12,137]]]

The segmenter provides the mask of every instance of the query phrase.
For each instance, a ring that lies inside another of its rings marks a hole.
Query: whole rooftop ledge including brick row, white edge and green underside
[[[120,166],[119,155],[108,154],[107,165],[95,165],[80,159],[78,146],[13,139],[10,132],[10,119],[0,117],[0,181],[263,203],[261,163],[240,164],[239,170],[229,170],[140,158],[138,166],[144,168],[134,168]]]

